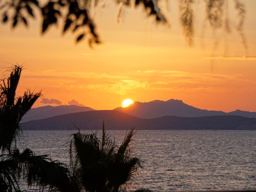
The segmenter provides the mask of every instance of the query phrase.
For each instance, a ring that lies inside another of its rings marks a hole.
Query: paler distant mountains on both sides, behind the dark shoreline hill
[[[85,106],[43,106],[31,109],[22,118],[22,122],[39,120],[52,116],[65,115],[68,113],[78,113],[84,111],[93,111],[94,109]],[[161,116],[181,116],[181,117],[198,117],[198,116],[222,116],[236,115],[249,118],[256,118],[256,112],[236,110],[229,113],[223,111],[209,111],[189,106],[182,100],[153,100],[150,102],[134,102],[127,108],[116,108],[115,111],[127,113],[139,118],[159,118]]]

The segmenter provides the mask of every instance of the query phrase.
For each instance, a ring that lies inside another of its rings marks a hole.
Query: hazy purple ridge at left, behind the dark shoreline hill
[[[83,111],[92,111],[94,109],[85,106],[43,106],[40,108],[33,108],[26,113],[21,122],[28,122],[31,120],[38,120],[49,118],[51,116],[64,115],[68,113],[77,113]]]

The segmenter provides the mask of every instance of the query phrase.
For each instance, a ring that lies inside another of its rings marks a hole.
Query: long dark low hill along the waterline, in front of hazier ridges
[[[160,118],[138,118],[120,111],[86,111],[54,116],[43,120],[22,123],[24,130],[63,130],[63,129],[250,129],[256,130],[256,119],[243,116],[205,116]]]

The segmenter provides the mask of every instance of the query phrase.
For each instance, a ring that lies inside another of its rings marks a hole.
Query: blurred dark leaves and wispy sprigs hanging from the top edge
[[[12,28],[19,24],[29,26],[29,19],[35,19],[40,15],[42,19],[41,31],[44,34],[51,26],[61,24],[63,33],[70,31],[76,35],[76,42],[88,38],[89,45],[99,44],[100,38],[97,33],[95,22],[90,15],[90,8],[98,6],[100,0],[0,0],[0,14],[2,22],[9,22]],[[166,23],[166,16],[161,11],[159,1],[168,0],[115,0],[120,6],[118,20],[122,17],[124,7],[142,6],[148,16],[154,17],[156,22]],[[244,47],[246,40],[243,34],[245,19],[245,6],[239,0],[205,0],[200,1],[205,4],[205,19],[213,30],[223,28],[226,33],[230,33],[234,28],[242,38]],[[94,4],[92,4],[94,3]],[[168,3],[166,3],[168,5]],[[237,12],[237,24],[230,26],[228,17],[228,4],[234,4],[234,11]],[[166,8],[168,9],[168,8]],[[193,44],[194,36],[194,0],[179,0],[180,22],[184,31],[184,36],[189,45]],[[36,14],[36,13],[37,14]]]

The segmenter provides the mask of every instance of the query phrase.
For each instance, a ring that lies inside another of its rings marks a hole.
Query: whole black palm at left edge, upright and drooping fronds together
[[[20,191],[20,177],[26,179],[28,186],[77,191],[66,166],[48,156],[36,156],[28,148],[20,152],[16,146],[20,120],[41,95],[28,90],[15,97],[21,72],[21,66],[13,66],[10,77],[0,83],[0,191]]]

